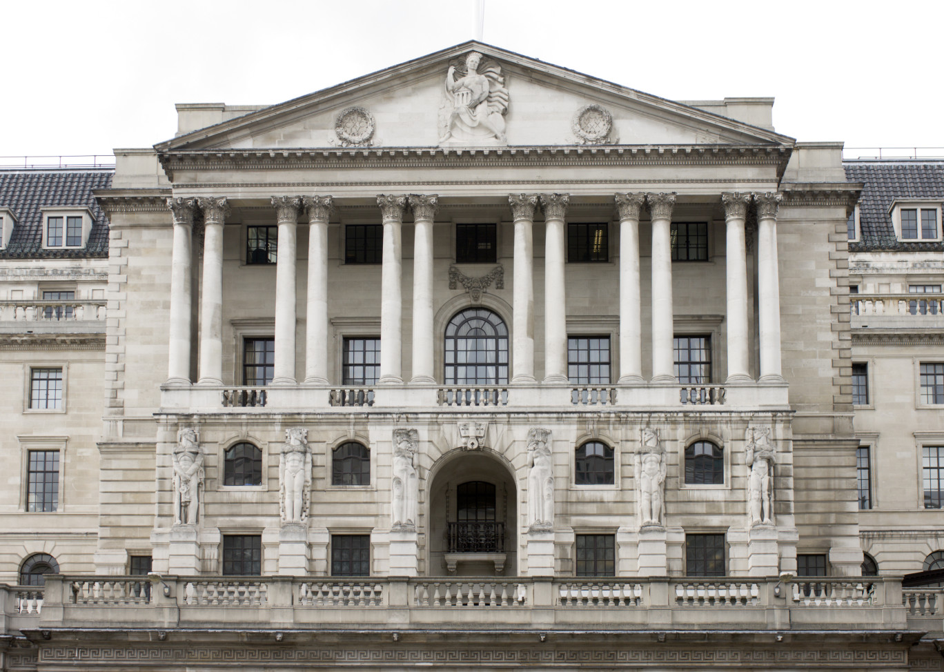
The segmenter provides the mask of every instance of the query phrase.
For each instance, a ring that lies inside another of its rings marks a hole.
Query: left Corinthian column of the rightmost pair
[[[750,193],[722,193],[727,222],[728,382],[750,380],[748,370],[748,262],[744,222]]]

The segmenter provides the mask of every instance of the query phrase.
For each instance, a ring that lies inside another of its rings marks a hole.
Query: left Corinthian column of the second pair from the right
[[[642,302],[639,297],[639,210],[645,193],[617,193],[619,210],[619,382],[642,382]]]

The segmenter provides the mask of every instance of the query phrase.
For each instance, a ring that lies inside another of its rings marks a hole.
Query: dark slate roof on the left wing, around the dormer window
[[[0,259],[108,259],[109,219],[92,192],[111,186],[113,169],[0,170],[0,208],[16,217],[16,226]],[[83,248],[42,249],[43,206],[92,210],[94,223]]]

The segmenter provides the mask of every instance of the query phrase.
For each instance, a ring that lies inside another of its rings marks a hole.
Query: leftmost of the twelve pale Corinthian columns
[[[174,214],[174,251],[171,257],[171,331],[167,383],[190,385],[190,316],[193,270],[191,244],[194,231],[193,198],[167,199]]]

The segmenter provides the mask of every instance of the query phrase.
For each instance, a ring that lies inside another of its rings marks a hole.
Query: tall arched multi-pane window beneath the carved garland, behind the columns
[[[446,327],[447,385],[504,385],[508,382],[508,328],[496,313],[469,308]]]

